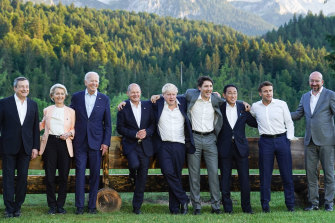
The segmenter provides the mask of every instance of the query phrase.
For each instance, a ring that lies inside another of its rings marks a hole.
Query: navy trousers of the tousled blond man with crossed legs
[[[172,213],[180,212],[180,205],[189,202],[181,178],[185,151],[182,143],[163,142],[159,152],[159,164],[169,186],[169,209]]]

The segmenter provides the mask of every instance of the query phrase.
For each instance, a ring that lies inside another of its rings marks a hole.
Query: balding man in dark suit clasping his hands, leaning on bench
[[[130,84],[127,95],[129,100],[117,114],[117,131],[122,135],[123,154],[135,179],[133,212],[140,214],[150,157],[154,151],[151,136],[155,131],[155,118],[151,102],[141,101],[138,84]]]

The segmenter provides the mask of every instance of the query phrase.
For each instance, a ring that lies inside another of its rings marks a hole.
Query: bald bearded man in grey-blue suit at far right
[[[310,205],[305,211],[319,209],[318,171],[319,160],[324,171],[325,210],[333,211],[335,192],[334,181],[334,114],[335,92],[323,87],[320,72],[314,71],[309,76],[311,91],[305,93],[292,119],[305,116],[305,168],[308,183],[308,201]]]

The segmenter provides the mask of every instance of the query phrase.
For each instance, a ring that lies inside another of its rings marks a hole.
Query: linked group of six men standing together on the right
[[[177,87],[168,83],[162,88],[162,96],[152,96],[151,102],[141,101],[139,85],[129,85],[129,100],[119,106],[117,130],[123,136],[124,154],[135,182],[133,212],[141,213],[149,160],[156,152],[169,186],[169,210],[172,214],[188,213],[189,200],[193,206],[193,214],[201,214],[202,156],[208,171],[211,212],[221,213],[221,199],[224,212],[233,212],[230,180],[235,163],[241,189],[242,211],[252,214],[246,124],[258,128],[260,134],[259,171],[263,212],[270,212],[271,177],[275,157],[283,181],[286,207],[290,212],[295,211],[290,141],[297,139],[294,137],[292,120],[303,116],[306,118],[304,144],[310,202],[304,210],[319,209],[317,167],[321,161],[325,173],[324,208],[332,211],[335,189],[335,93],[323,87],[324,81],[320,72],[311,73],[309,83],[311,91],[303,95],[297,111],[292,113],[286,102],[273,98],[273,85],[268,81],[259,85],[261,100],[253,103],[251,110],[248,104],[237,101],[238,89],[235,85],[226,85],[223,90],[224,99],[221,99],[217,93],[212,92],[213,81],[207,76],[198,79],[198,89],[189,89],[182,95],[177,95]],[[189,198],[181,182],[185,157],[189,170]]]

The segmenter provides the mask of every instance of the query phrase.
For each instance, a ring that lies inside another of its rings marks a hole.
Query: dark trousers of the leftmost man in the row
[[[2,154],[3,200],[8,213],[20,210],[26,197],[30,156],[24,151],[22,143],[17,154]]]

